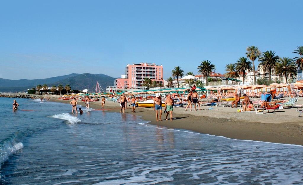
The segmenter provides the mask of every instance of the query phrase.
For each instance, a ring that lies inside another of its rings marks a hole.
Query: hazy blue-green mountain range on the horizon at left
[[[72,89],[83,90],[89,88],[89,92],[95,91],[96,83],[99,82],[102,89],[105,91],[106,86],[113,86],[114,80],[111,76],[107,76],[105,74],[90,74],[83,73],[77,74],[72,73],[64,76],[55,76],[51,78],[45,79],[35,79],[35,80],[8,80],[4,78],[0,78],[0,92],[24,92],[27,89],[36,88],[37,85],[47,84],[48,87],[53,85],[58,86],[62,84],[65,86],[69,84]]]

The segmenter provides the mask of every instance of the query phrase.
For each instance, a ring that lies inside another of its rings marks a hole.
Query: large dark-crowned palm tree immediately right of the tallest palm
[[[275,51],[270,50],[263,52],[262,57],[258,59],[259,67],[263,69],[263,72],[269,72],[269,81],[271,81],[271,72],[275,70],[279,58],[278,55],[275,55]]]

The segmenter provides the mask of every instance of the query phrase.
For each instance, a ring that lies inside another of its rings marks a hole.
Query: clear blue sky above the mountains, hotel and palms
[[[301,0],[2,1],[0,77],[118,77],[127,63],[155,62],[166,79],[174,66],[196,74],[203,60],[225,73],[250,45],[295,57],[302,8]]]

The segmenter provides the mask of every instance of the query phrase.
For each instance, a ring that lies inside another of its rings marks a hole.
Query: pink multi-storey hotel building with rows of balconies
[[[163,66],[155,63],[133,63],[125,67],[125,78],[115,80],[116,89],[142,89],[145,78],[163,84]]]

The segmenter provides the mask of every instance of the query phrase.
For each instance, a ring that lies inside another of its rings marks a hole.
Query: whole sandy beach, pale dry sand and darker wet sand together
[[[55,98],[51,98],[51,101],[70,102]],[[84,102],[78,102],[78,104],[85,106]],[[301,104],[303,104],[303,99],[299,98],[297,105]],[[91,102],[90,108],[100,109],[101,102]],[[276,110],[276,114],[237,112],[237,109],[228,107],[214,106],[212,110],[208,110],[208,108],[201,107],[201,109],[207,109],[201,111],[185,111],[185,108],[174,108],[173,121],[166,121],[163,112],[161,118],[164,120],[156,122],[155,111],[152,108],[137,107],[135,115],[150,121],[149,124],[168,128],[185,129],[233,139],[303,145],[303,117],[298,117],[299,112],[295,108]],[[120,112],[120,106],[115,102],[106,102],[105,110],[96,111]],[[271,112],[273,111],[271,110]],[[131,107],[125,109],[125,114],[132,114]]]

